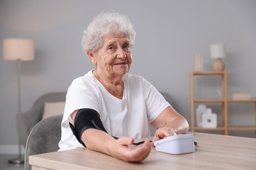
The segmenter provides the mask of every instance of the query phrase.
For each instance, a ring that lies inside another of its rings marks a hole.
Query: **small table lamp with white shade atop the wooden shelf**
[[[224,71],[225,65],[221,58],[226,56],[225,44],[211,44],[211,58],[215,59],[213,63],[213,71]]]

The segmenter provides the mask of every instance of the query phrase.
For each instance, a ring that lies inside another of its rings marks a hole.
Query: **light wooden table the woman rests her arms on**
[[[154,147],[148,158],[127,163],[87,148],[30,156],[32,169],[256,169],[256,139],[194,132],[191,154],[171,155]]]

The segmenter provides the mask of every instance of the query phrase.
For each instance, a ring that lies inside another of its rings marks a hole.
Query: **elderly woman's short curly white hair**
[[[95,52],[102,44],[104,35],[109,33],[126,33],[130,46],[135,42],[135,30],[127,16],[117,13],[100,13],[83,31],[81,44],[84,52]]]

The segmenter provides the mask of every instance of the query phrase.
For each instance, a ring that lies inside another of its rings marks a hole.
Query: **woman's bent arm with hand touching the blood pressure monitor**
[[[165,108],[151,125],[157,129],[152,144],[159,139],[188,132],[188,122],[172,107]]]

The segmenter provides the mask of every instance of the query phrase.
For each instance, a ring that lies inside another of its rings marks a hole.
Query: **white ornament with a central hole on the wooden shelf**
[[[202,114],[202,127],[217,127],[217,114],[206,109]]]

